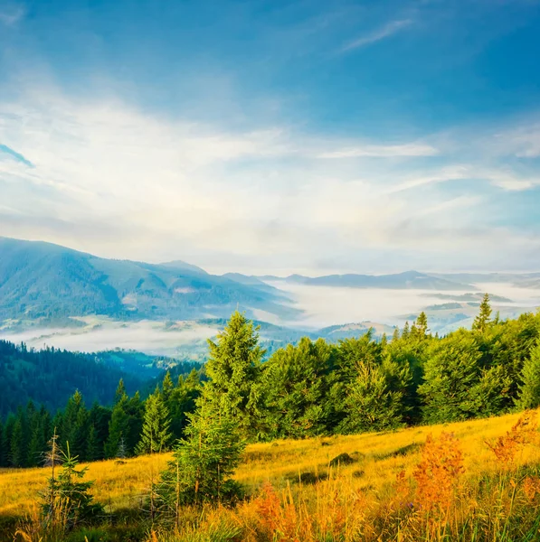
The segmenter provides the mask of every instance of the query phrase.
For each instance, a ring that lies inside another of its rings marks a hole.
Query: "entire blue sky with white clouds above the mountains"
[[[538,58],[537,0],[0,0],[0,236],[537,271]]]

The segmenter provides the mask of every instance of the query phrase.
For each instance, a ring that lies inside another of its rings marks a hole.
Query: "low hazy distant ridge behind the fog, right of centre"
[[[460,290],[474,291],[473,285],[463,284],[442,276],[426,275],[418,271],[405,271],[394,275],[327,275],[302,276],[290,275],[285,278],[278,276],[258,276],[265,282],[285,282],[287,284],[309,286],[336,286],[347,288],[385,288],[413,290]]]

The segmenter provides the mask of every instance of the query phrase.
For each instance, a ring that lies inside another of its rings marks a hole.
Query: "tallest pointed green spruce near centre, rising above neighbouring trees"
[[[265,350],[259,346],[258,329],[243,314],[232,313],[217,342],[208,341],[210,357],[205,366],[209,379],[204,382],[204,400],[222,405],[246,436],[253,435],[261,400],[257,384]]]

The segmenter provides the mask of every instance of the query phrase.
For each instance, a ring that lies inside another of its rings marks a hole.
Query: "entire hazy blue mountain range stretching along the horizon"
[[[94,314],[120,321],[186,321],[227,318],[236,308],[257,320],[294,322],[302,311],[292,286],[429,291],[455,303],[478,301],[477,285],[494,282],[540,287],[540,273],[218,276],[180,260],[107,259],[42,241],[0,238],[0,322],[78,325],[73,317]]]

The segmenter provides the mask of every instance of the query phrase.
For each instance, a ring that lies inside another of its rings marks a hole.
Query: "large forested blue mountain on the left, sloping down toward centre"
[[[120,319],[227,317],[237,307],[293,318],[284,294],[185,262],[95,257],[39,241],[0,238],[0,321],[101,314]]]

